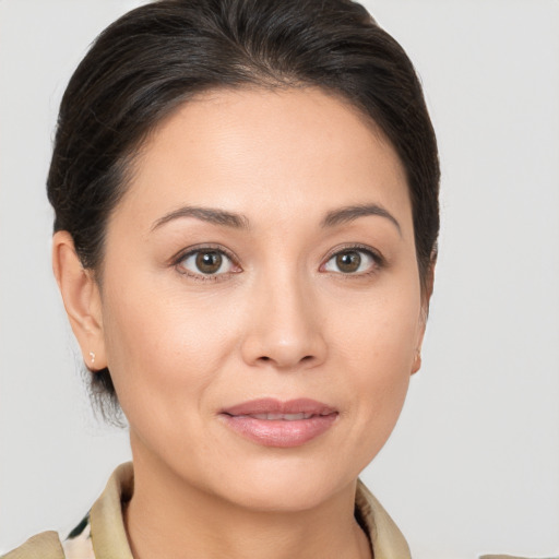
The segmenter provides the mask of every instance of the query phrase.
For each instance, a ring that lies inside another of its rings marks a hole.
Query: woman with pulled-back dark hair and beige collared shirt
[[[7,557],[409,557],[358,475],[420,367],[438,183],[412,63],[356,3],[167,0],[108,27],[48,194],[133,466],[62,544]]]

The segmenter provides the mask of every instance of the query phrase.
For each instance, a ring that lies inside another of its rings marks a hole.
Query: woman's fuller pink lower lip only
[[[248,415],[222,414],[234,431],[263,447],[288,449],[300,447],[328,431],[337,414],[318,415],[308,419],[288,421],[285,419],[257,419]]]

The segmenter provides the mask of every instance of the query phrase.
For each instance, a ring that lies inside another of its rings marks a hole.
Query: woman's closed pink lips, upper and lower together
[[[326,431],[337,418],[331,406],[314,400],[254,400],[221,413],[227,426],[264,447],[299,447]]]

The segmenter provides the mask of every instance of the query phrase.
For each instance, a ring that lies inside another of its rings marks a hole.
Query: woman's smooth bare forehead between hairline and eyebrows
[[[293,218],[374,202],[409,211],[392,145],[355,107],[317,88],[226,90],[186,102],[135,159],[127,205],[136,219],[181,204]]]

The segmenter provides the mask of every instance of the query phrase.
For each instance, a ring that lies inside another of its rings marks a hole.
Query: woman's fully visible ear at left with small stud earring
[[[99,288],[93,272],[82,266],[68,231],[52,237],[52,270],[87,368],[104,369],[107,359]]]

